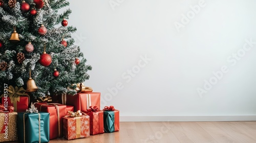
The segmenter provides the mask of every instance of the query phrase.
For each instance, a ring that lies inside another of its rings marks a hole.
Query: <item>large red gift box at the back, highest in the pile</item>
[[[87,100],[89,98],[91,100]],[[67,105],[74,106],[74,110],[87,111],[89,109],[87,102],[91,101],[91,105],[100,108],[100,92],[77,93],[75,96],[67,95]]]

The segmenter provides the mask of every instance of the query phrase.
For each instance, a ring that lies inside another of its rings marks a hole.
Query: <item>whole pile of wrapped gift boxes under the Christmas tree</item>
[[[100,92],[47,96],[30,104],[25,90],[16,89],[1,96],[0,142],[49,142],[119,131],[119,110],[113,106],[100,110]]]

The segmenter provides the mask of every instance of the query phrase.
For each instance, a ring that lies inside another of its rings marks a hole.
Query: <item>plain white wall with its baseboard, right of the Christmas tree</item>
[[[199,3],[195,14],[190,6]],[[69,25],[78,29],[76,43],[93,66],[85,84],[101,92],[101,108],[120,110],[121,121],[256,120],[256,43],[250,47],[245,41],[256,41],[255,5],[253,0],[70,1]],[[188,23],[183,14],[191,14]],[[238,52],[241,57],[233,58]],[[141,56],[150,59],[147,64]],[[222,67],[220,80],[204,88],[204,80],[215,82],[212,72]],[[128,70],[138,72],[132,77]],[[116,84],[121,84],[117,95],[108,90]],[[207,93],[200,97],[197,88]]]

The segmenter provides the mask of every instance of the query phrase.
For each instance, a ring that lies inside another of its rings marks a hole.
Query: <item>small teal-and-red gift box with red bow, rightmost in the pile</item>
[[[111,108],[106,106],[103,110],[104,132],[119,131],[119,110],[116,110],[113,106]]]

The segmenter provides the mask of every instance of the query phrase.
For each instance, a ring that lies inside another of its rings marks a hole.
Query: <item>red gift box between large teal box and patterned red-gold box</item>
[[[67,114],[67,106],[57,103],[35,103],[35,107],[41,112],[50,113],[50,139],[62,137],[62,117]]]

